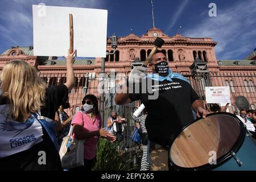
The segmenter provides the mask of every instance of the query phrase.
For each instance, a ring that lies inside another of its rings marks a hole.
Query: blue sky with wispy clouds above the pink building
[[[256,48],[255,0],[152,0],[155,27],[169,36],[209,37],[218,42],[217,59],[244,59]],[[150,0],[0,0],[0,52],[11,46],[31,46],[32,5],[108,10],[108,36],[142,36],[152,28]],[[209,3],[217,16],[210,17]],[[180,28],[181,26],[181,28]]]

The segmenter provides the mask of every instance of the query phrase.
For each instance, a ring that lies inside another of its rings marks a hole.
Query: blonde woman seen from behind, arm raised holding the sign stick
[[[10,61],[1,73],[0,171],[62,170],[56,150],[55,112],[73,88],[73,56],[67,57],[67,82],[47,88],[36,68]],[[53,126],[53,127],[52,127]]]

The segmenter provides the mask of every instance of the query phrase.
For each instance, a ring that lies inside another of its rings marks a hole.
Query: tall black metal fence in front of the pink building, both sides
[[[122,79],[125,79],[125,73],[115,74],[114,77],[110,76],[110,73],[106,73],[104,78],[104,93],[105,93],[105,118],[109,117],[111,110],[117,110],[122,117],[127,118],[128,125],[134,126],[135,123],[131,119],[133,108],[138,104],[127,104],[118,106],[114,104],[114,93],[117,89],[117,85]],[[121,75],[121,76],[120,76]],[[64,84],[66,81],[66,75],[64,73],[58,74],[41,74],[41,77],[47,82],[48,86]],[[192,75],[184,75],[189,80],[193,89],[196,90],[201,100],[205,100],[205,86],[230,86],[230,99],[231,106],[230,112],[238,111],[236,105],[236,98],[238,96],[244,96],[247,98],[250,104],[250,109],[255,109],[256,94],[255,94],[255,73],[248,72],[225,72],[225,73],[210,73],[210,75],[202,75],[195,77]],[[69,94],[69,102],[77,107],[77,110],[81,107],[81,100],[85,94],[94,94],[100,98],[100,78],[95,73],[76,73],[76,84],[72,92]]]

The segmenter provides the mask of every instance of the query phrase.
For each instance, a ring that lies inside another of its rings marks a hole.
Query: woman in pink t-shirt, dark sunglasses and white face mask
[[[86,95],[82,100],[82,111],[73,117],[71,125],[76,139],[84,142],[84,166],[72,168],[76,171],[91,171],[96,158],[98,138],[114,141],[115,137],[109,131],[101,129],[102,119],[98,110],[98,99],[94,95]]]

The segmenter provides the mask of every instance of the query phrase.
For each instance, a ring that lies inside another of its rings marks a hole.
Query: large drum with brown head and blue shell
[[[255,154],[256,144],[245,125],[230,113],[209,114],[188,125],[169,150],[170,164],[177,170],[256,170]]]

